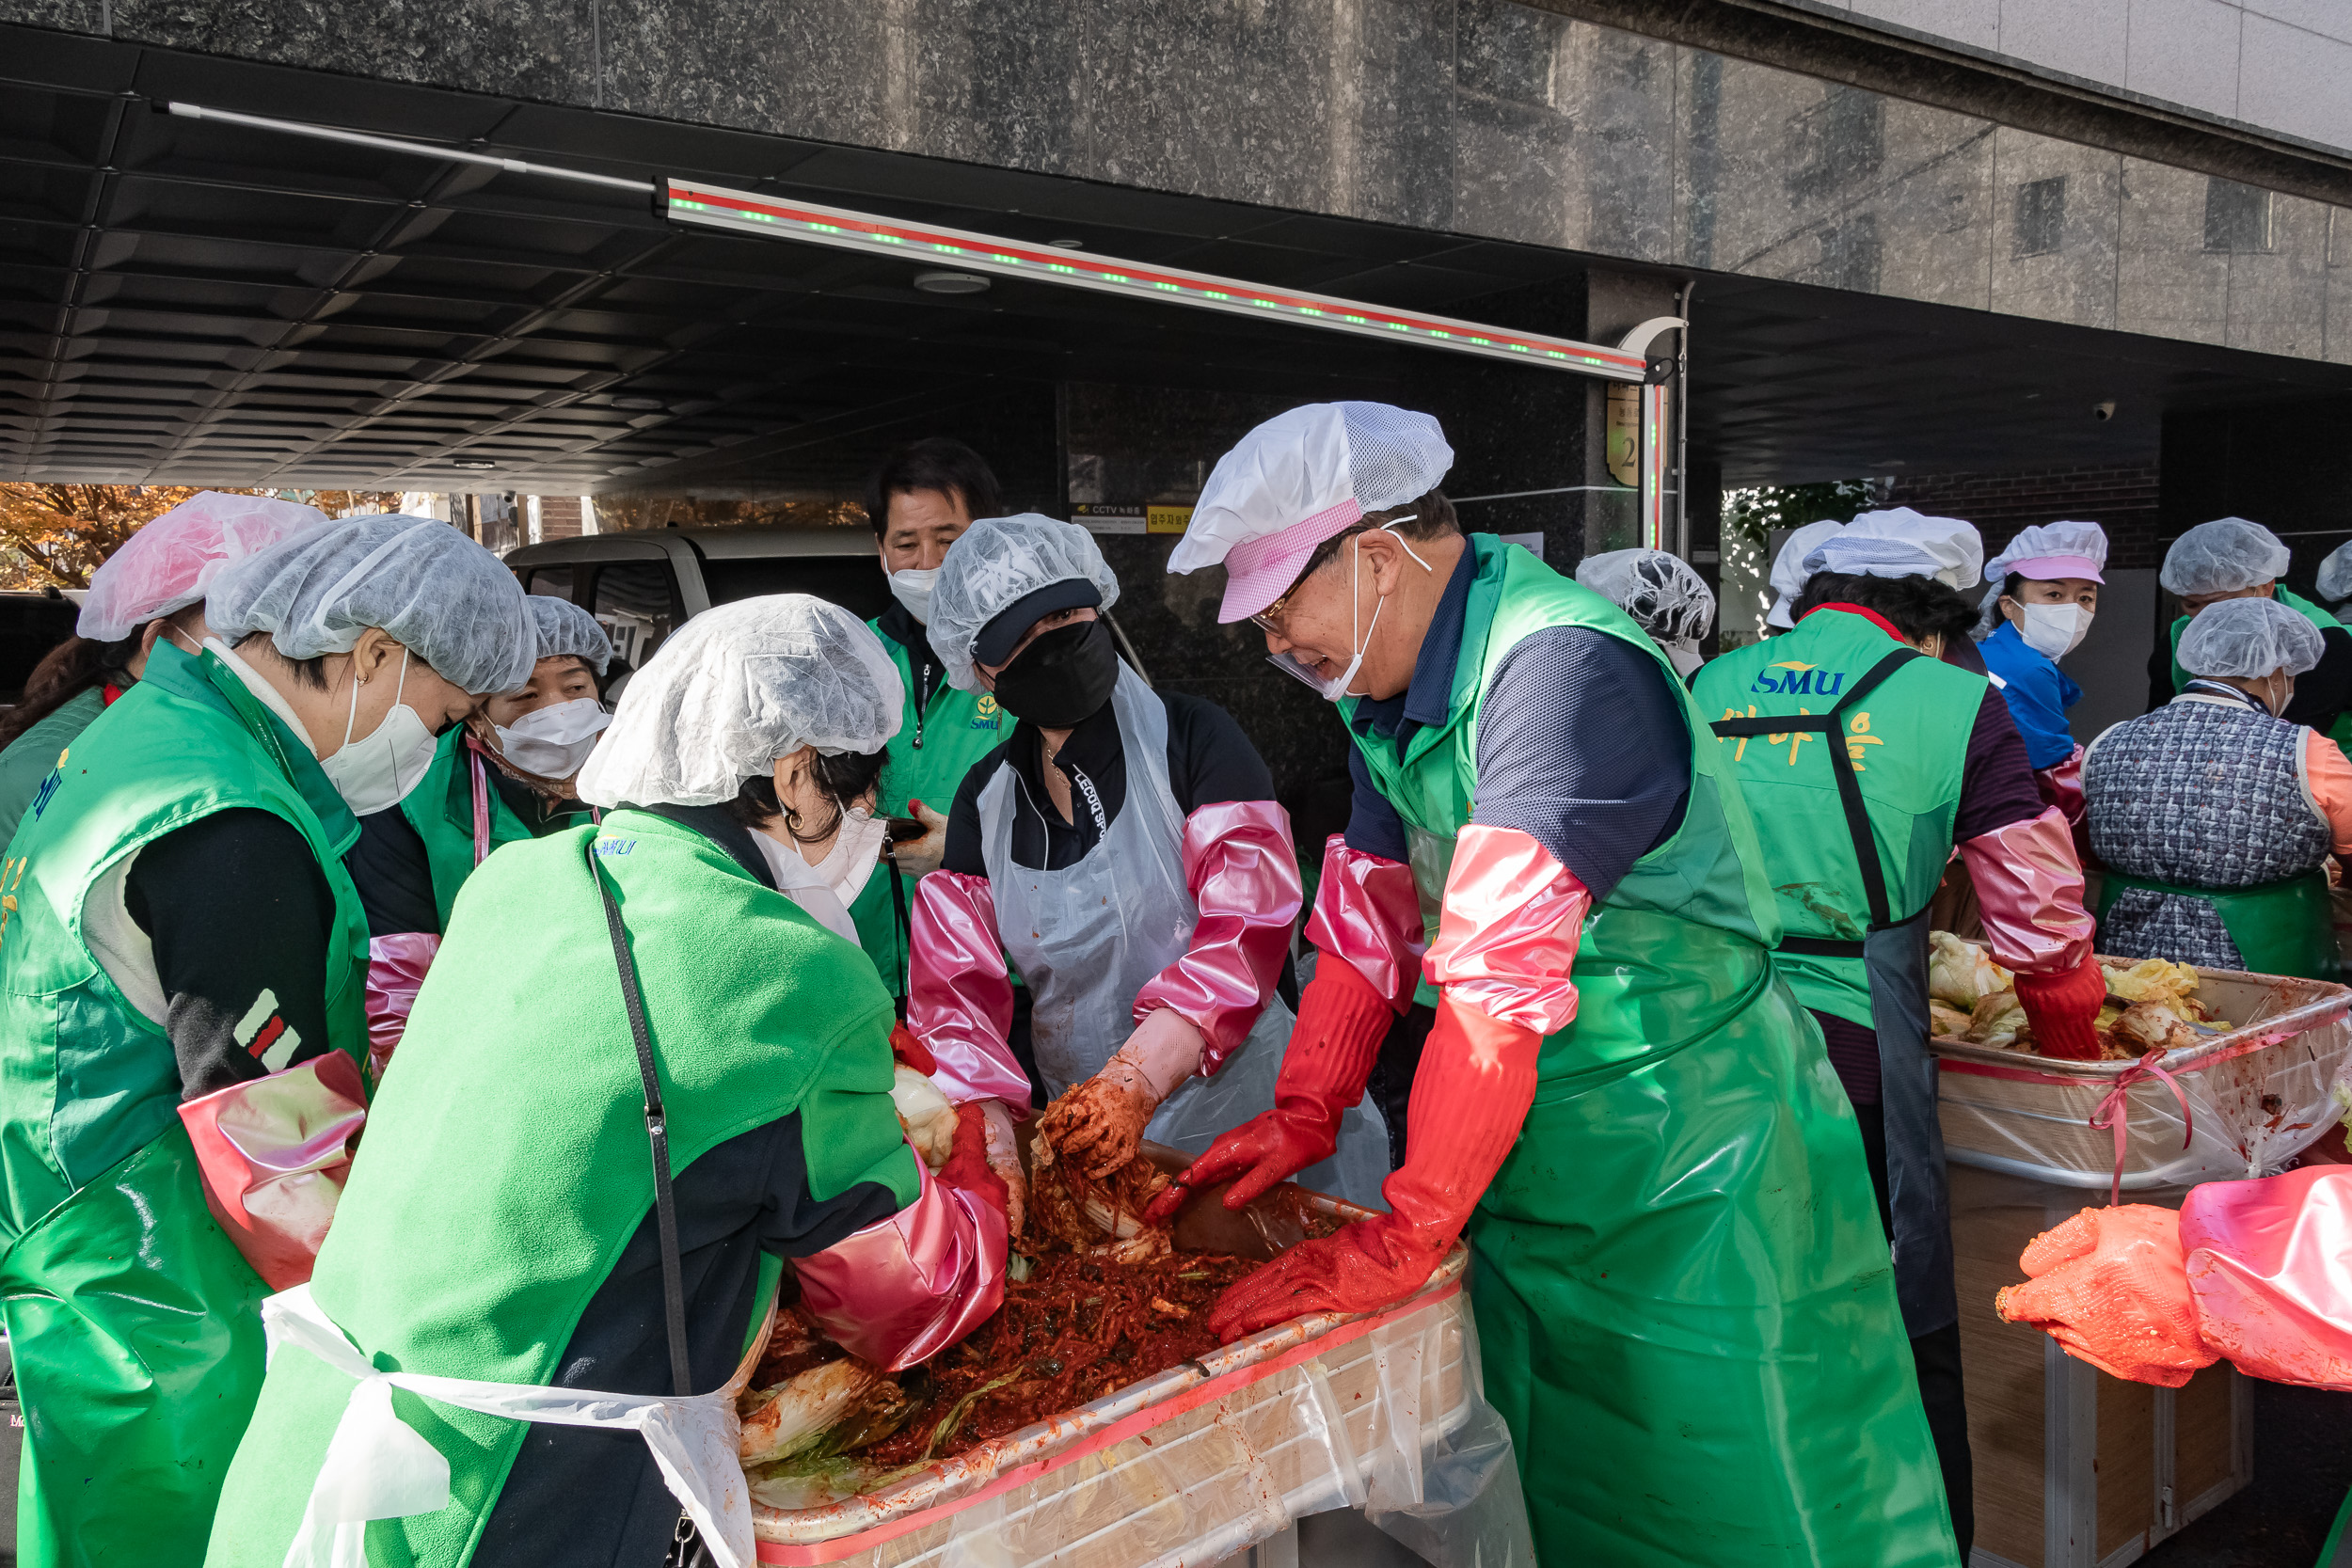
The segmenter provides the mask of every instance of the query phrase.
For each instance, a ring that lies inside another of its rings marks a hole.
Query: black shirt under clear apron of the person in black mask
[[[1169,792],[1185,816],[1228,799],[1272,799],[1275,776],[1258,748],[1223,708],[1183,691],[1160,693],[1169,715]],[[1037,726],[1014,724],[1004,745],[971,764],[948,809],[948,849],[941,865],[967,877],[985,877],[981,856],[981,790],[1000,766],[1014,771],[1014,860],[1058,872],[1101,842],[1127,804],[1127,748],[1110,703],[1070,731],[1054,766],[1070,778],[1070,813],[1063,823],[1044,788],[1044,745]]]

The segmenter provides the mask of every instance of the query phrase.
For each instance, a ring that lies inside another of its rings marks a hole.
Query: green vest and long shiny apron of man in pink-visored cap
[[[1613,604],[1470,538],[1449,717],[1355,736],[1404,818],[1435,938],[1477,792],[1501,658],[1583,625],[1672,665]],[[1343,703],[1352,712],[1352,703]],[[1470,1220],[1486,1396],[1510,1422],[1545,1563],[1950,1566],[1853,1107],[1780,985],[1780,936],[1738,788],[1691,726],[1679,830],[1585,919],[1576,1023]]]

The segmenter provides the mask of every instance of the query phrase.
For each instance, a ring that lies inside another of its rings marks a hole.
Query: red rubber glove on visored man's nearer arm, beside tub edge
[[[1534,1030],[1439,1001],[1404,1114],[1411,1157],[1381,1187],[1390,1213],[1244,1276],[1211,1307],[1209,1331],[1230,1345],[1305,1312],[1376,1312],[1418,1291],[1519,1140],[1541,1051]]]

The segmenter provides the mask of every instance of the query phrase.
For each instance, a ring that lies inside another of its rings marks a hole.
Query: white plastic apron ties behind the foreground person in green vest
[[[670,1493],[694,1516],[703,1547],[720,1568],[753,1568],[750,1495],[736,1460],[741,1420],[736,1394],[750,1378],[767,1331],[755,1338],[727,1387],[687,1399],[597,1394],[524,1382],[480,1382],[426,1373],[383,1373],[334,1326],[310,1298],[310,1286],[261,1302],[270,1356],[285,1347],[308,1352],[355,1380],[350,1403],[327,1441],[327,1460],[310,1483],[287,1568],[365,1568],[367,1521],[433,1514],[449,1507],[449,1460],[393,1410],[402,1387],[461,1410],[637,1432]]]

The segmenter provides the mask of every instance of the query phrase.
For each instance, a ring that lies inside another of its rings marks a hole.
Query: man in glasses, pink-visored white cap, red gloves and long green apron
[[[1860,1133],[1726,759],[1621,609],[1458,531],[1451,461],[1425,414],[1291,409],[1169,562],[1225,567],[1218,618],[1341,705],[1357,769],[1275,1110],[1183,1182],[1312,1164],[1390,1011],[1437,1004],[1390,1213],[1209,1326],[1381,1309],[1468,1227],[1543,1561],[1950,1566]]]

